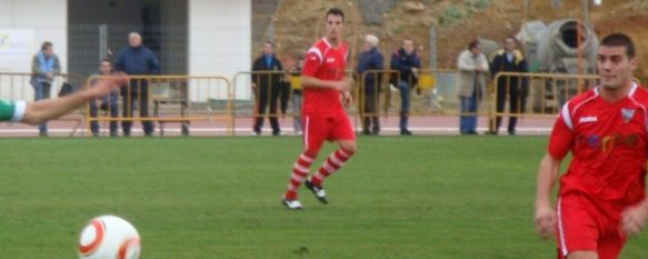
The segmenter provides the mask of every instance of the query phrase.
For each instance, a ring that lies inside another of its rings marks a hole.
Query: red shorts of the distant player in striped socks
[[[303,117],[305,150],[319,152],[325,140],[355,140],[353,127],[346,113],[335,117],[305,116]]]

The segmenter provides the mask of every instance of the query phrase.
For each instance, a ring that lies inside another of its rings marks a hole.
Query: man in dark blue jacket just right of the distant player
[[[372,34],[365,37],[365,46],[362,53],[358,58],[358,67],[356,71],[360,77],[368,70],[382,70],[382,54],[378,51],[378,38]],[[380,93],[380,73],[370,72],[365,77],[365,96],[362,98],[362,133],[378,135],[380,132],[380,122],[378,120],[378,103]],[[373,123],[373,124],[371,124]],[[369,131],[371,128],[371,131]]]

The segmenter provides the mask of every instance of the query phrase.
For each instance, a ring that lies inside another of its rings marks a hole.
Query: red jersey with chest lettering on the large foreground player
[[[624,99],[610,103],[598,88],[569,100],[549,140],[549,155],[569,169],[560,178],[560,196],[589,197],[615,219],[645,197],[648,160],[648,91],[634,83]]]

